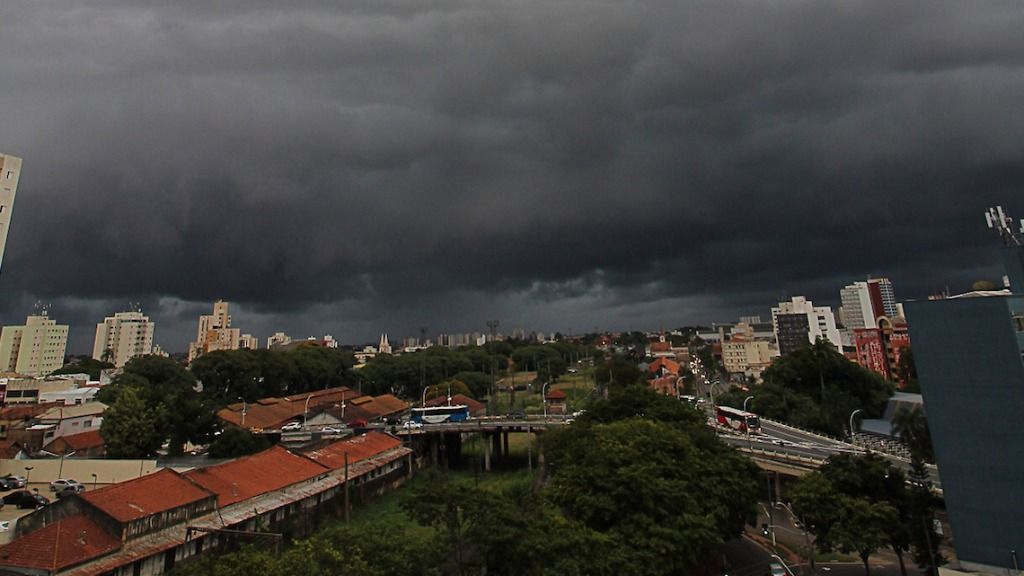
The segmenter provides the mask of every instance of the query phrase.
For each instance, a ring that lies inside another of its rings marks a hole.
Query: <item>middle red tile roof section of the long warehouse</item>
[[[185,478],[217,495],[220,506],[281,490],[315,478],[327,467],[274,446],[231,462],[185,472]]]

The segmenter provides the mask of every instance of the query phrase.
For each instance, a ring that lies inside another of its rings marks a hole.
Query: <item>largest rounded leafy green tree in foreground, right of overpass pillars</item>
[[[754,517],[754,464],[670,422],[568,426],[545,449],[549,498],[607,536],[617,573],[685,573]]]

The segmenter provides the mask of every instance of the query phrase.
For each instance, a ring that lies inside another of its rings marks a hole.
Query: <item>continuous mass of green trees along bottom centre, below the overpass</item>
[[[610,385],[543,443],[540,478],[501,489],[421,478],[406,523],[335,527],[281,554],[244,550],[177,574],[680,574],[755,518],[757,468],[645,386]]]

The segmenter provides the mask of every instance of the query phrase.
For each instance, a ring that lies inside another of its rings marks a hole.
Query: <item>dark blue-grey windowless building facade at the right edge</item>
[[[914,362],[963,568],[1016,572],[1024,551],[1024,294],[906,304]]]

